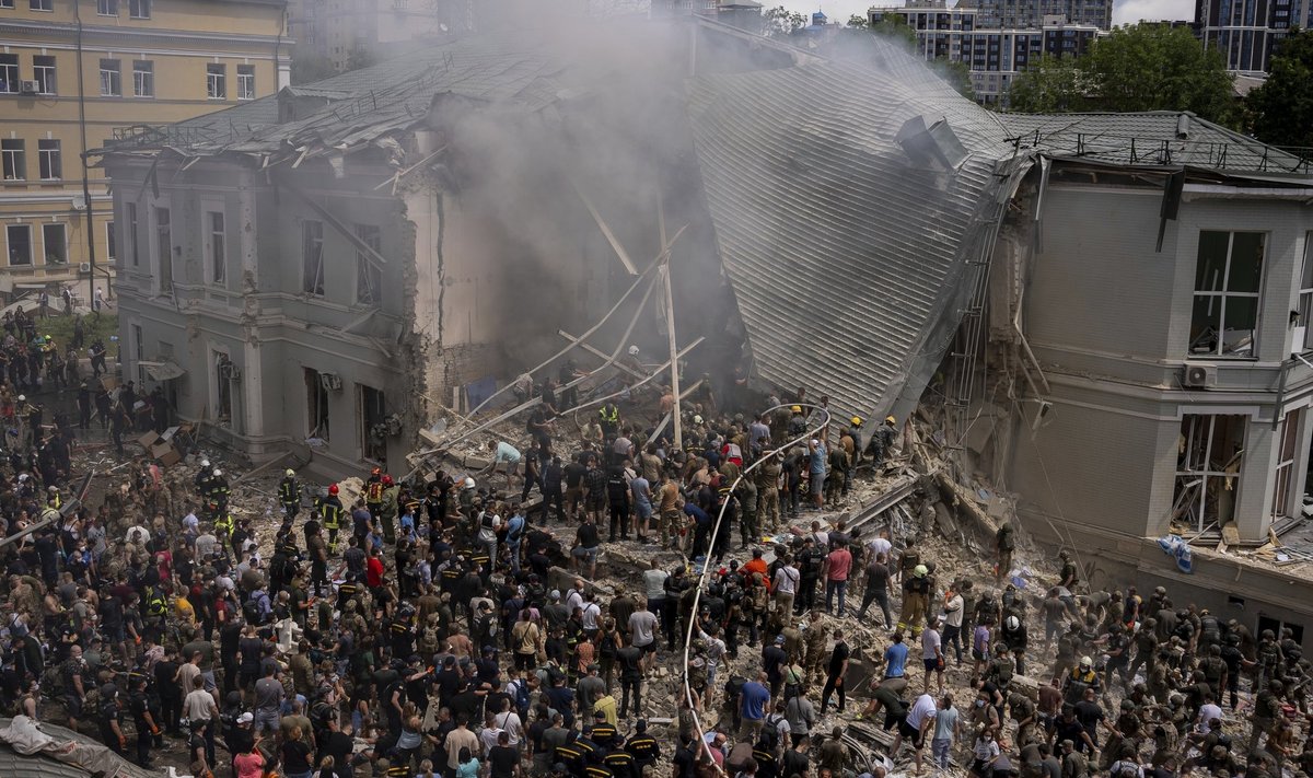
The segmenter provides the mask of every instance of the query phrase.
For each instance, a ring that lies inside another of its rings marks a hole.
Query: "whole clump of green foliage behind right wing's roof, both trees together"
[[[1186,28],[1120,26],[1074,60],[1041,59],[1012,83],[1012,110],[1191,110],[1220,124],[1234,121],[1232,75],[1216,49]]]

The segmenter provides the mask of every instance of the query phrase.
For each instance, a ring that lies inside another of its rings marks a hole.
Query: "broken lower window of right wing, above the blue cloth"
[[[1188,414],[1180,421],[1171,520],[1221,530],[1236,515],[1249,417]]]

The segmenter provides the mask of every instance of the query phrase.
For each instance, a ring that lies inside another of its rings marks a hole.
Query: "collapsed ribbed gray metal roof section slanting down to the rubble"
[[[754,375],[863,415],[894,407],[958,315],[966,254],[991,229],[978,209],[1014,155],[1003,125],[923,66],[708,76],[689,110]],[[956,175],[910,162],[894,135],[914,116],[948,120],[969,152]]]

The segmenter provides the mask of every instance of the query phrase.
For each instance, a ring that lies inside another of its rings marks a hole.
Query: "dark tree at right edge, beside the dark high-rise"
[[[1274,146],[1313,146],[1313,32],[1278,43],[1267,80],[1245,100],[1250,131]]]

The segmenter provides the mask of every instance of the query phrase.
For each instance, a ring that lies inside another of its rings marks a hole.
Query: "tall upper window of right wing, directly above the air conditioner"
[[[1255,356],[1263,233],[1199,234],[1190,356]]]

